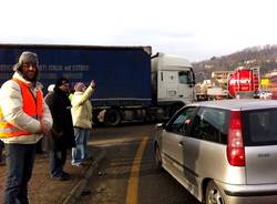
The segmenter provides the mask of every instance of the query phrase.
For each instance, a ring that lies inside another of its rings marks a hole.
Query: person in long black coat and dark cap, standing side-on
[[[52,145],[48,147],[50,155],[51,177],[65,181],[69,174],[63,171],[66,161],[66,150],[75,146],[74,131],[71,116],[71,103],[69,100],[69,80],[60,78],[54,86],[51,100],[48,100],[53,126]]]

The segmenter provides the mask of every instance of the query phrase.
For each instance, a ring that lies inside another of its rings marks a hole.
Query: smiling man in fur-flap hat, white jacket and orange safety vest
[[[11,80],[0,90],[0,139],[4,142],[7,183],[4,203],[29,203],[28,182],[32,175],[35,143],[52,126],[52,116],[38,82],[39,60],[22,52]]]

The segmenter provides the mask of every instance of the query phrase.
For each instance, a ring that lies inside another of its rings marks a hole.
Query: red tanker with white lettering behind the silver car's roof
[[[255,98],[259,92],[259,68],[237,68],[228,76],[228,92],[233,98]]]

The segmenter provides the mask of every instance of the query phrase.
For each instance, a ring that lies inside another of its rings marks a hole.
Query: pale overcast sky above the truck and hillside
[[[195,62],[277,44],[277,1],[2,0],[0,43],[152,45]]]

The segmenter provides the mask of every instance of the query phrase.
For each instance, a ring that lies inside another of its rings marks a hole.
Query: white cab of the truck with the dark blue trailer
[[[158,52],[152,57],[152,82],[157,103],[188,104],[195,101],[192,64],[176,55]]]

